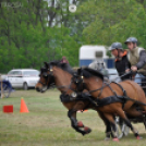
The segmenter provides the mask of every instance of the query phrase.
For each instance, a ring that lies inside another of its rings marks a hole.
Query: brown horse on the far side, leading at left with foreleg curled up
[[[62,93],[63,97],[65,97],[65,99],[70,98],[66,101],[62,101],[62,104],[64,105],[64,107],[66,107],[66,109],[69,109],[68,115],[71,120],[72,127],[75,129],[75,131],[85,135],[90,132],[90,129],[85,126],[81,121],[77,122],[76,111],[89,108],[94,110],[97,109],[93,104],[90,104],[90,100],[88,100],[88,98],[77,99],[76,97],[74,97],[75,92],[73,90],[76,88],[76,85],[72,83],[73,74],[74,72],[71,70],[69,64],[61,64],[58,61],[51,62],[49,64],[45,63],[45,68],[40,70],[40,80],[36,84],[36,90],[44,93],[48,89],[48,87],[50,87],[50,85],[54,84],[57,88]],[[98,113],[107,126],[106,139],[109,139],[110,135],[112,136],[110,123],[104,117],[104,114],[101,114],[101,112]]]

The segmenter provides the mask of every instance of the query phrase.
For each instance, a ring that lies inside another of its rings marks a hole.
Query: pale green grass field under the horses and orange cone
[[[29,113],[20,113],[21,97]],[[132,134],[119,143],[105,142],[105,125],[95,111],[77,113],[77,119],[93,129],[86,136],[76,133],[66,117],[68,110],[59,100],[59,92],[45,94],[35,90],[17,90],[10,98],[0,99],[0,146],[145,146],[146,132],[143,124],[136,124],[143,139]],[[14,113],[2,112],[4,105],[13,105]]]

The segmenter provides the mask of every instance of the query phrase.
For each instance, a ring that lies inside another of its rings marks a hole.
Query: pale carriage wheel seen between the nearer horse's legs
[[[118,130],[118,138],[129,135],[130,127],[119,117],[115,118],[115,125]]]

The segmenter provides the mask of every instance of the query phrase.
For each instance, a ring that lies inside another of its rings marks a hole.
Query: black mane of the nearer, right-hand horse
[[[97,76],[104,81],[104,74],[97,70],[94,70],[94,69],[86,66],[86,68],[82,69],[82,72],[83,72],[83,76],[85,76],[87,78],[93,77],[93,76]]]

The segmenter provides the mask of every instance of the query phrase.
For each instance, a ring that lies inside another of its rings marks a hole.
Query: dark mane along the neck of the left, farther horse
[[[51,61],[49,64],[50,65],[56,65],[56,66],[62,69],[63,71],[69,72],[72,75],[74,74],[73,69],[71,68],[71,65],[69,63],[61,63],[60,60],[56,60],[56,61]]]

